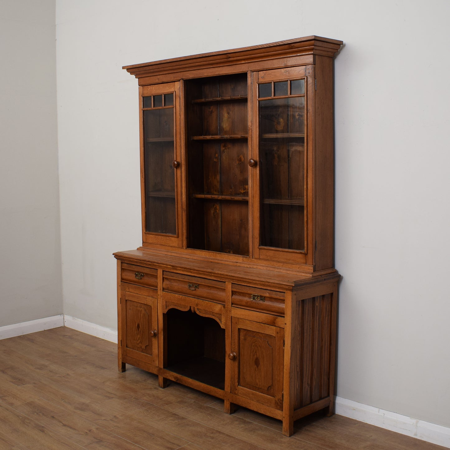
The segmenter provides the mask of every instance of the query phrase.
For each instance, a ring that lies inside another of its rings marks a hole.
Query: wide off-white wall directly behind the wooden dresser
[[[446,0],[57,0],[64,312],[116,326],[140,245],[137,81],[122,65],[318,35],[335,63],[338,396],[450,426]]]

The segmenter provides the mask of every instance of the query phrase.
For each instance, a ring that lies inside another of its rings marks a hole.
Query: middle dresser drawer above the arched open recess
[[[164,272],[162,289],[165,292],[225,303],[224,281]]]

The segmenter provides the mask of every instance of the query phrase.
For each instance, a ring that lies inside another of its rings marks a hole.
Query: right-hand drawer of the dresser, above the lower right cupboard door
[[[231,304],[254,311],[284,315],[284,292],[232,284]]]

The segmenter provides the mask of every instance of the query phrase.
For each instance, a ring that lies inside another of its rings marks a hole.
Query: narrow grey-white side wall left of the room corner
[[[54,0],[0,2],[0,326],[63,312]]]

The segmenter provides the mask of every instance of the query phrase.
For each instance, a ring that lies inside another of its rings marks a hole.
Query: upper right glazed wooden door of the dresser
[[[306,263],[310,72],[253,73],[253,252],[262,259]]]

